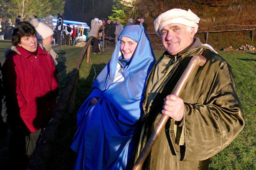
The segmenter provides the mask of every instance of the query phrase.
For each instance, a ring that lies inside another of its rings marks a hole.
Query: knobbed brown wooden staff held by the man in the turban
[[[200,54],[195,55],[194,57],[192,57],[192,59],[190,60],[186,70],[184,71],[184,73],[180,77],[180,80],[178,81],[178,83],[177,83],[177,85],[176,85],[172,94],[179,97],[182,90],[185,88],[191,74],[195,70],[195,68],[198,65],[203,66],[205,64],[205,62],[206,62],[206,59]],[[154,131],[152,132],[148,142],[146,143],[145,147],[141,151],[141,154],[139,155],[138,159],[136,160],[135,165],[133,166],[133,170],[141,169],[141,166],[142,166],[143,162],[145,161],[149,152],[153,148],[153,145],[155,144],[157,138],[160,136],[160,133],[161,133],[163,127],[165,127],[165,124],[166,124],[168,119],[169,119],[169,116],[166,116],[166,115],[161,116],[161,118],[160,118],[159,122],[157,123]]]

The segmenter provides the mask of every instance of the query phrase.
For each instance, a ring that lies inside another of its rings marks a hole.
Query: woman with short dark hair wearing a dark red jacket
[[[10,169],[25,169],[41,131],[56,108],[58,79],[49,53],[37,45],[36,30],[29,22],[19,22],[12,34],[12,48],[3,67],[10,138]]]

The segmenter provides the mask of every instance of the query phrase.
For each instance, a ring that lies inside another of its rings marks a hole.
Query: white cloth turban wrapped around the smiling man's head
[[[197,15],[194,14],[190,9],[186,11],[183,9],[174,8],[162,13],[157,17],[157,19],[155,19],[155,32],[158,36],[161,37],[161,30],[165,25],[177,23],[187,25],[189,27],[194,27],[196,33],[199,20],[200,18],[198,18]]]

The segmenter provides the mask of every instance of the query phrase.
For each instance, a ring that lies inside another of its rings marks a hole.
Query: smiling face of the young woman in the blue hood
[[[130,39],[129,37],[121,37],[120,41],[121,41],[120,49],[123,53],[124,59],[132,58],[132,55],[133,55],[138,43],[135,42],[133,39]]]

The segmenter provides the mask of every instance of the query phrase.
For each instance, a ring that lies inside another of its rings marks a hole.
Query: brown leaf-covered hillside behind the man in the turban
[[[201,20],[198,32],[215,30],[238,30],[256,28],[256,1],[255,0],[138,0],[137,11],[140,17],[145,18],[148,24],[148,33],[155,33],[154,20],[161,13],[172,8],[190,9]],[[224,25],[224,26],[218,26]],[[256,33],[255,33],[256,34]],[[205,34],[196,34],[205,43]],[[252,31],[235,31],[224,33],[209,33],[208,44],[216,49],[242,44],[256,44],[256,38],[251,42]],[[149,35],[153,48],[161,44],[156,35]]]

